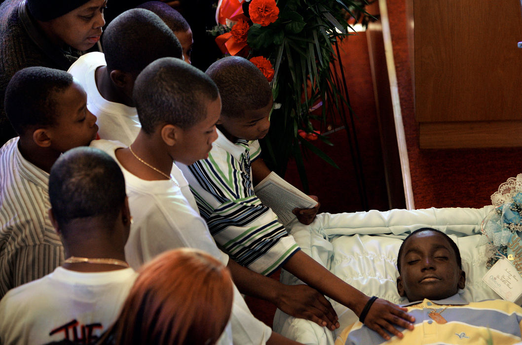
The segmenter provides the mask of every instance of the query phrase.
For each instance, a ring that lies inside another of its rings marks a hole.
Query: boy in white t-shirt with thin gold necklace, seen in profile
[[[221,110],[216,85],[203,72],[176,58],[161,58],[138,76],[134,99],[141,130],[129,147],[97,140],[92,146],[109,153],[121,165],[134,216],[125,255],[132,267],[164,251],[198,248],[224,265],[205,221],[183,196],[170,175],[173,161],[192,164],[205,158],[216,139]],[[224,343],[261,344],[281,340],[258,321],[234,289],[231,327]]]

